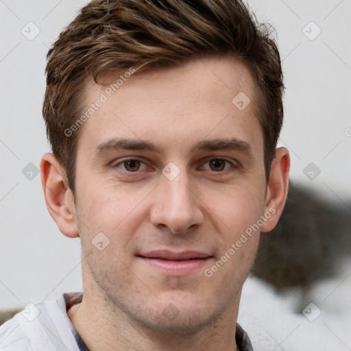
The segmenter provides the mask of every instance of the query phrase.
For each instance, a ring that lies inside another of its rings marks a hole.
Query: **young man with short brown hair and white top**
[[[237,314],[287,196],[282,93],[241,1],[86,5],[48,53],[40,163],[84,291],[16,315],[1,350],[252,350]]]

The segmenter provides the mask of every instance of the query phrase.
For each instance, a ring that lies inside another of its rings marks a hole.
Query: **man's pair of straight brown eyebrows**
[[[149,141],[143,141],[141,139],[130,139],[130,138],[111,138],[103,143],[97,145],[93,152],[95,158],[101,157],[108,152],[124,150],[147,150],[156,153],[162,153],[163,147],[156,145]],[[204,141],[200,141],[195,145],[191,152],[194,151],[216,151],[216,150],[237,150],[243,152],[248,156],[252,156],[252,145],[237,138],[214,138]]]

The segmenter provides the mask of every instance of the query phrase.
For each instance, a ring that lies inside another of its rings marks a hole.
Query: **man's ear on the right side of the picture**
[[[270,213],[271,216],[263,223],[261,232],[269,232],[278,223],[287,200],[289,169],[289,151],[286,147],[279,147],[276,149],[276,157],[271,165],[265,200],[265,213]]]

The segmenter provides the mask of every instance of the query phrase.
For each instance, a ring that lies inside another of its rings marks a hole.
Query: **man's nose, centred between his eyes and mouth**
[[[191,189],[186,171],[181,171],[174,180],[161,175],[155,191],[150,213],[154,226],[161,229],[167,227],[173,234],[181,234],[204,221],[201,201],[195,189]]]

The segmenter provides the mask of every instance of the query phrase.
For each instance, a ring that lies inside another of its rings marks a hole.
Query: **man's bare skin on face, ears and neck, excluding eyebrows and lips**
[[[86,82],[84,111],[104,88]],[[244,110],[232,104],[239,92],[251,99]],[[266,183],[254,92],[250,72],[232,58],[134,73],[81,127],[74,197],[60,163],[53,154],[43,156],[49,213],[63,234],[82,241],[84,298],[68,315],[90,350],[237,350],[241,288],[260,230],[213,276],[204,269],[269,208],[275,213],[261,231],[274,228],[289,178],[289,152],[282,147]],[[149,141],[162,150],[95,154],[97,145],[117,137]],[[250,152],[194,149],[217,138],[236,138]],[[123,162],[127,158],[141,163],[131,171]],[[213,168],[210,160],[218,158],[228,162],[217,161]],[[173,180],[162,174],[169,162],[180,171]],[[110,240],[102,251],[92,244],[99,232]],[[213,257],[191,274],[173,276],[136,256],[161,249]]]

